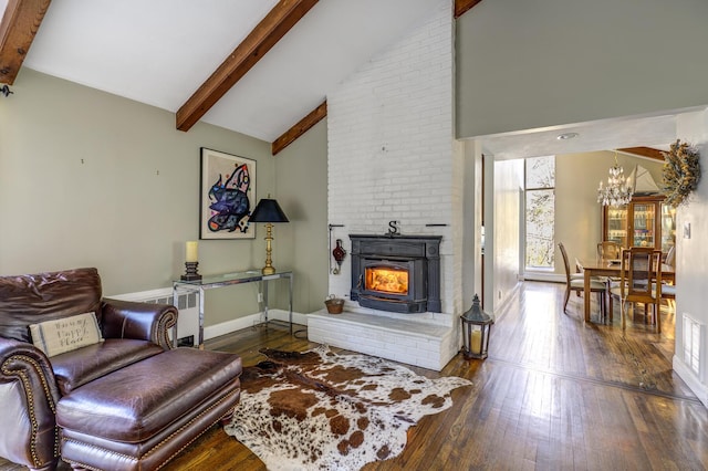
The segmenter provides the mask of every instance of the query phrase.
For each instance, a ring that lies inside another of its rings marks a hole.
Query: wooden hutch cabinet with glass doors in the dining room
[[[603,206],[603,240],[666,253],[676,242],[676,210],[663,201],[663,195],[635,196],[627,206]]]

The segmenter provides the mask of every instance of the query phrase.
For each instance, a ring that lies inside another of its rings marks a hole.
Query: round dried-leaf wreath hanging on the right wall
[[[688,195],[700,180],[700,154],[690,144],[676,139],[664,155],[664,191],[666,203],[677,208],[687,203]]]

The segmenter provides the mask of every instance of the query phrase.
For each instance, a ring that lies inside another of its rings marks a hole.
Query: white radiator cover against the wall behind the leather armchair
[[[173,289],[162,287],[158,290],[140,291],[137,293],[118,294],[106,296],[122,301],[139,301],[144,303],[174,304]],[[191,336],[191,343],[180,342],[180,345],[195,346],[199,342],[199,295],[197,293],[181,293],[177,299],[177,338],[186,339]],[[170,331],[171,338],[171,331]]]

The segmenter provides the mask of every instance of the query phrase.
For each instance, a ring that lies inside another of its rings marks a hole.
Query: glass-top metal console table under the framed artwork
[[[222,273],[215,275],[206,275],[201,280],[174,280],[173,281],[173,300],[178,305],[179,292],[198,292],[199,293],[199,348],[204,348],[204,293],[207,290],[217,287],[232,286],[235,284],[260,282],[260,301],[263,306],[264,321],[257,324],[268,324],[268,284],[271,280],[288,280],[288,323],[290,325],[290,334],[292,335],[292,272],[278,272],[264,275],[260,270],[250,270],[246,272]],[[173,339],[177,345],[177,335]]]

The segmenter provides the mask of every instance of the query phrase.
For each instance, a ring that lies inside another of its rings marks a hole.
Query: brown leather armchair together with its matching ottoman
[[[95,313],[103,341],[49,357],[29,326]],[[33,470],[154,470],[240,395],[237,355],[173,348],[174,306],[102,297],[96,269],[0,276],[0,457]]]

